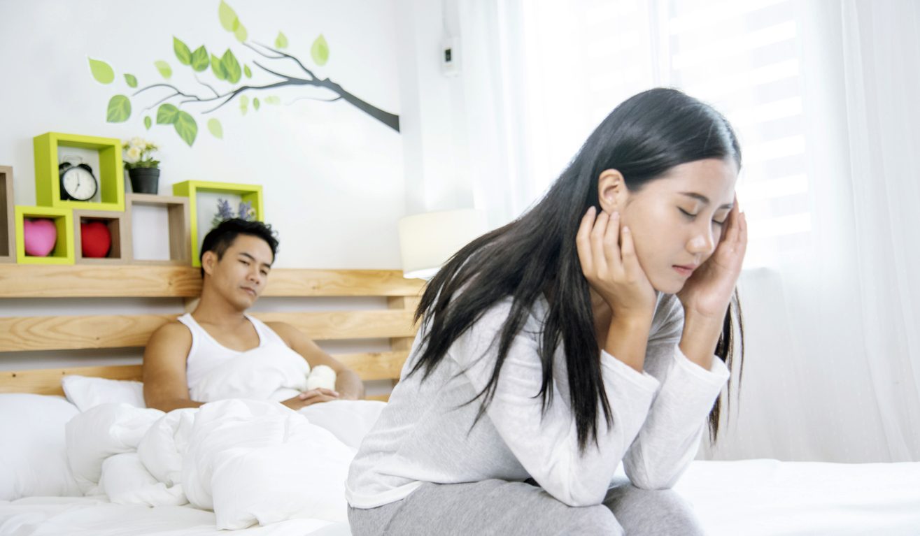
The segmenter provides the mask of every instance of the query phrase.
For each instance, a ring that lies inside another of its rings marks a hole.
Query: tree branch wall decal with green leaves
[[[241,64],[236,54],[229,48],[222,55],[217,56],[213,53],[213,49],[209,51],[204,45],[192,51],[185,42],[173,37],[173,51],[178,63],[190,67],[193,78],[198,83],[199,91],[202,91],[203,87],[207,88],[209,93],[202,95],[192,89],[180,88],[168,82],[157,82],[138,88],[137,78],[133,74],[125,73],[124,79],[127,85],[136,90],[131,97],[125,95],[111,97],[106,120],[115,123],[129,120],[132,113],[132,98],[137,100],[149,98],[145,100],[145,103],[149,102],[149,104],[141,109],[142,115],[155,108],[156,124],[172,125],[178,136],[191,146],[198,136],[198,122],[195,116],[208,116],[233,101],[236,101],[240,113],[246,115],[250,103],[255,111],[259,111],[263,103],[281,104],[280,97],[266,95],[266,92],[270,90],[282,87],[305,87],[318,89],[326,97],[305,95],[293,98],[287,104],[290,105],[304,99],[320,102],[344,100],[394,131],[399,131],[399,116],[356,97],[328,78],[317,76],[300,58],[284,51],[283,49],[288,46],[288,39],[282,32],[278,32],[274,46],[250,41],[246,27],[236,17],[233,8],[228,6],[224,0],[221,0],[217,11],[224,29],[233,33],[241,45],[258,56],[251,60],[254,67],[250,67],[248,63]],[[326,38],[322,35],[313,41],[310,57],[316,66],[321,67],[328,62],[329,47]],[[172,67],[167,62],[158,60],[154,64],[166,81],[172,77]],[[114,71],[108,63],[90,58],[89,67],[90,73],[100,84],[110,84],[115,79]],[[253,68],[256,69],[255,74]],[[202,80],[201,75],[208,74],[209,71],[216,82],[209,83],[210,81]],[[243,82],[244,77],[245,82]],[[252,80],[254,77],[260,80],[265,79],[266,83],[255,83]],[[273,81],[268,81],[268,77]],[[161,88],[166,88],[170,92],[164,94]],[[153,123],[154,120],[149,116],[144,116],[144,127],[149,130]],[[215,117],[208,120],[208,130],[215,138],[220,139],[224,136],[223,126]]]

